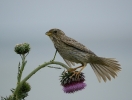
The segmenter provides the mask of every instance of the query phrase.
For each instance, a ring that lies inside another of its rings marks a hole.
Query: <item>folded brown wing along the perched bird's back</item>
[[[87,49],[83,44],[77,42],[76,40],[74,40],[70,37],[64,36],[61,38],[61,41],[71,47],[74,47],[74,48],[80,50],[80,51],[87,52],[89,54],[94,54],[91,50]]]

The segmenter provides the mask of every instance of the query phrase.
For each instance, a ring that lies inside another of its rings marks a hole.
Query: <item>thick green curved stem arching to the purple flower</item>
[[[56,64],[56,65],[60,65],[66,69],[69,69],[69,67],[61,62],[58,62],[58,61],[50,61],[50,62],[45,62],[44,64],[42,65],[39,65],[36,69],[34,69],[30,74],[28,74],[19,84],[18,86],[16,87],[15,91],[14,91],[14,96],[17,95],[20,87],[22,86],[22,84],[24,82],[26,82],[32,75],[34,75],[37,71],[39,71],[41,68],[44,68],[46,67],[47,65],[50,65],[50,64]]]

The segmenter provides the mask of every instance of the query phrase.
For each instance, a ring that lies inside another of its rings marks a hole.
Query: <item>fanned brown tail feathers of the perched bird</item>
[[[101,82],[101,78],[106,82],[107,79],[111,80],[111,76],[115,78],[117,72],[121,70],[120,64],[113,58],[103,58],[93,56],[90,59],[90,65],[94,70],[98,81]]]

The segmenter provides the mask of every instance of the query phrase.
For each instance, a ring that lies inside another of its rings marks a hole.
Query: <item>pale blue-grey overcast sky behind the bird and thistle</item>
[[[132,0],[0,0],[0,96],[16,87],[21,61],[16,44],[31,45],[23,78],[53,58],[54,46],[45,35],[51,28],[63,30],[98,56],[116,58],[122,71],[99,83],[87,65],[87,87],[65,94],[59,82],[63,69],[44,68],[28,80],[32,89],[26,100],[132,100]],[[59,54],[56,61],[64,62]]]

